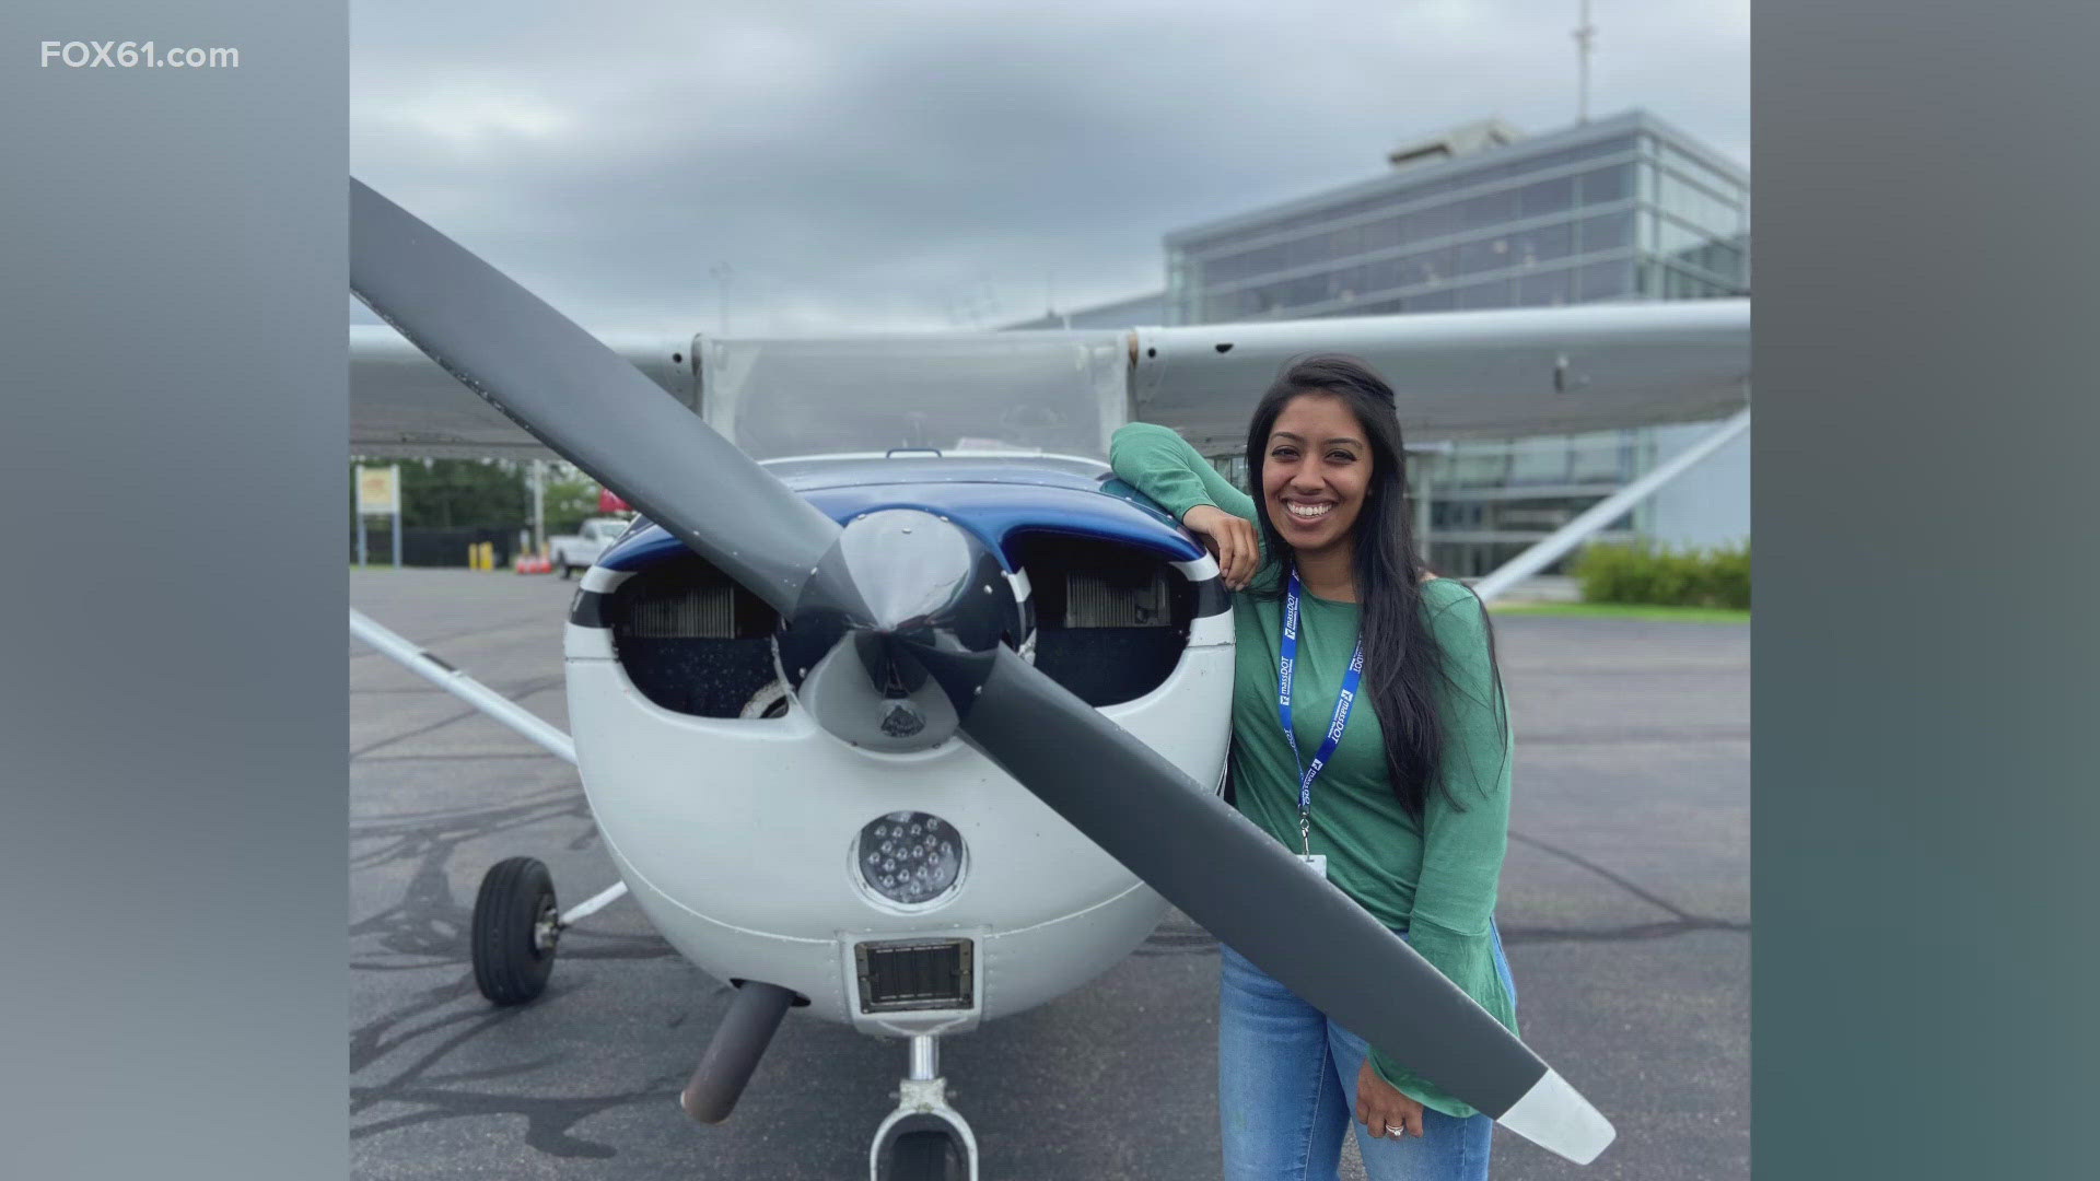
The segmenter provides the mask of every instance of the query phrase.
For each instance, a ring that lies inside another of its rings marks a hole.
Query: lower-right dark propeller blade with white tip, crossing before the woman
[[[920,654],[932,666],[939,656]],[[1611,1124],[1369,912],[1010,649],[962,733],[1292,992],[1539,1147],[1588,1164]]]

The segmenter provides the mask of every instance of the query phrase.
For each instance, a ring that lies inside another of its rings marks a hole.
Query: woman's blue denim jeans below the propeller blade
[[[1495,935],[1495,967],[1510,981]],[[1510,988],[1514,1002],[1516,990]],[[1233,948],[1218,969],[1218,1124],[1226,1181],[1334,1181],[1357,1120],[1363,1038],[1327,1019]],[[1422,1137],[1357,1147],[1371,1181],[1487,1181],[1495,1122],[1422,1110]]]

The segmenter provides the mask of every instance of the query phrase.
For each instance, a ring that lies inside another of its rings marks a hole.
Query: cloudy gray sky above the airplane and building
[[[1749,0],[1596,0],[1596,116],[1749,162]],[[972,328],[1159,240],[1575,118],[1577,0],[351,4],[357,177],[588,326]],[[355,309],[359,319],[370,313]]]

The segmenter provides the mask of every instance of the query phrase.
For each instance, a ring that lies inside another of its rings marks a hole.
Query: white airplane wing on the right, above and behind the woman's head
[[[1304,353],[1369,361],[1409,443],[1697,422],[1749,401],[1749,301],[1140,328],[1134,416],[1203,454],[1239,450],[1262,391]]]

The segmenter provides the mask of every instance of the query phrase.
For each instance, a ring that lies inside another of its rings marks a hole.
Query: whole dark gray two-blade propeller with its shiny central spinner
[[[960,733],[1214,935],[1510,1131],[1588,1164],[1613,1128],[1405,941],[1178,767],[1037,672],[1012,586],[932,513],[844,527],[632,364],[351,181],[351,290],[542,443],[771,603],[781,662],[834,735]]]

